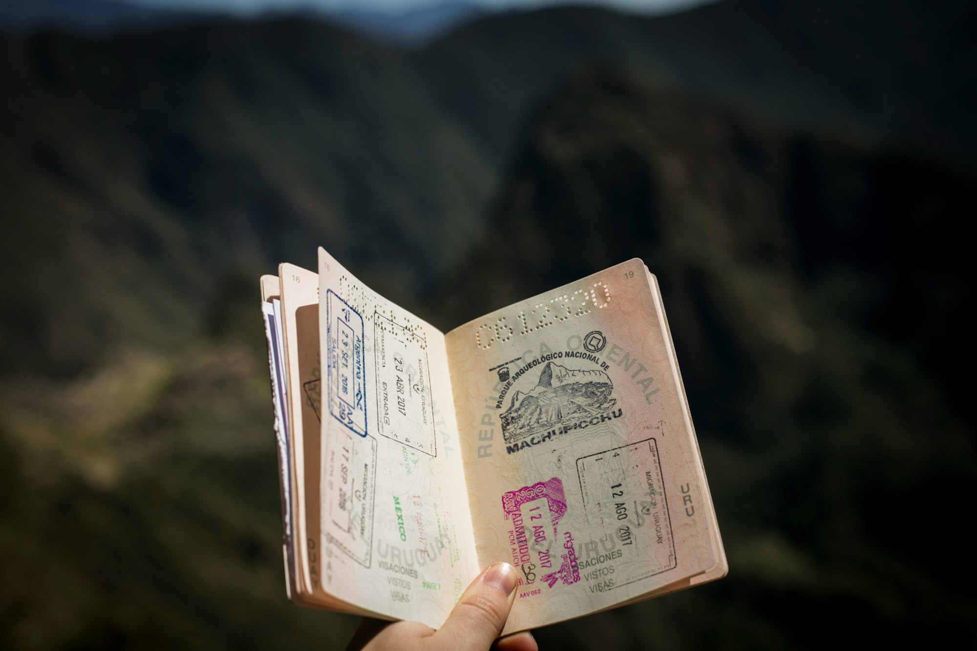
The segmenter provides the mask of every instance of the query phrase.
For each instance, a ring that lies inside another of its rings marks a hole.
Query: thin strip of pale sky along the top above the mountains
[[[239,14],[255,14],[273,10],[293,10],[315,7],[323,10],[339,9],[383,9],[389,11],[419,8],[433,4],[443,4],[445,0],[129,0],[130,2],[154,7],[223,10]],[[547,5],[588,4],[614,7],[632,12],[659,13],[676,11],[708,0],[474,0],[488,9],[531,9]]]

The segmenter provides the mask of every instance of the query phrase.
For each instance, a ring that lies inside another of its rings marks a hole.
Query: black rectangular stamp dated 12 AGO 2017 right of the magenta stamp
[[[677,565],[658,443],[654,438],[576,459],[587,521],[605,536],[581,547],[584,579],[600,589],[626,586]],[[594,556],[593,562],[591,556]],[[593,568],[591,568],[593,566]]]

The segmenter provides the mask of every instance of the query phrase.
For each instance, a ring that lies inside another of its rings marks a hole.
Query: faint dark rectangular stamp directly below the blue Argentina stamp
[[[335,529],[332,539],[350,557],[370,566],[373,501],[376,493],[376,439],[337,430],[327,441],[323,510]]]

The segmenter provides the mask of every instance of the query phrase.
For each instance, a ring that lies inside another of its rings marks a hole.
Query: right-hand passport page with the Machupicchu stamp
[[[505,633],[720,562],[653,281],[630,260],[446,334],[479,562],[520,575]]]

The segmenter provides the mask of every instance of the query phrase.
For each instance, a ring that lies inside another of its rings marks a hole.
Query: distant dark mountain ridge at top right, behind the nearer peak
[[[505,158],[528,98],[568,61],[637,66],[766,122],[974,160],[977,6],[726,0],[658,18],[589,8],[490,16],[421,53],[461,120]],[[500,47],[504,44],[504,47]]]

